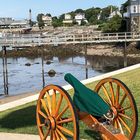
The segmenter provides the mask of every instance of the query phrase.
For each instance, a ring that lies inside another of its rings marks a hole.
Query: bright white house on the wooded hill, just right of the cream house
[[[75,21],[78,23],[78,25],[81,25],[82,20],[88,23],[84,13],[77,13],[75,15]]]

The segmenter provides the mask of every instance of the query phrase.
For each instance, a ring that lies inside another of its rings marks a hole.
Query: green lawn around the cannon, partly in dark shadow
[[[123,81],[135,98],[138,115],[140,120],[140,68],[132,70],[123,74],[113,76]],[[90,83],[87,86],[94,89],[98,82]],[[69,93],[72,96],[72,90]],[[138,132],[135,140],[140,139],[140,121],[138,126]],[[24,134],[38,134],[36,126],[36,102],[32,102],[23,106],[19,106],[0,113],[0,132],[10,133],[24,133]],[[100,139],[98,134],[93,133],[82,122],[80,122],[80,137],[84,139]]]

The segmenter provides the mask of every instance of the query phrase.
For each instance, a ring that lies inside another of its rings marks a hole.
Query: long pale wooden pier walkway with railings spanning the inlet
[[[107,42],[131,42],[140,41],[140,33],[95,33],[95,34],[19,34],[0,38],[0,45],[10,46],[36,46],[42,44],[77,44],[77,43],[107,43]]]

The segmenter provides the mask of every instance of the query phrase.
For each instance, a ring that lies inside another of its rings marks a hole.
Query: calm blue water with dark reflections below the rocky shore
[[[42,58],[7,59],[9,95],[36,92],[42,89],[44,83],[45,85],[65,85],[67,83],[63,77],[68,72],[72,73],[79,80],[83,80],[86,77],[94,77],[123,67],[123,59],[118,57],[87,56],[87,62],[84,56],[69,58],[52,57],[51,61],[53,63],[49,65],[46,64],[47,60],[45,57],[43,59],[44,61],[42,61]],[[42,62],[44,63],[42,64]],[[26,63],[30,63],[31,66],[25,66]],[[85,63],[87,63],[86,66]],[[128,59],[128,63],[128,65],[132,65],[139,62],[137,60]],[[42,69],[42,66],[44,69]],[[54,77],[48,75],[48,71],[51,69],[56,71]],[[0,58],[0,94],[4,93],[2,71],[2,59]]]

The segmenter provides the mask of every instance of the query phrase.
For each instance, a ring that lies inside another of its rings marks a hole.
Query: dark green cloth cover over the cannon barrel
[[[96,92],[87,88],[72,74],[67,73],[64,79],[74,88],[73,102],[81,112],[102,117],[110,110],[108,104]]]

